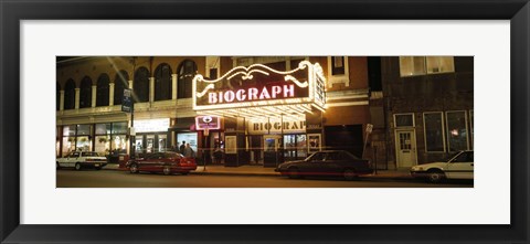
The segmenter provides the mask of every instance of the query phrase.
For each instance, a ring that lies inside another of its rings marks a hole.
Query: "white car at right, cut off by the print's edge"
[[[459,151],[443,162],[418,165],[411,168],[411,176],[433,183],[444,179],[474,179],[473,151]]]

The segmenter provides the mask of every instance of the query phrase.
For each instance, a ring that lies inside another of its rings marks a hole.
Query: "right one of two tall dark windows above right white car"
[[[466,112],[447,112],[449,151],[467,150]]]

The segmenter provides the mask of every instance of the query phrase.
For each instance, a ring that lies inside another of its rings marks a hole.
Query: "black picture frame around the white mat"
[[[528,0],[1,0],[0,2],[1,243],[529,243]],[[71,19],[510,20],[511,224],[21,225],[20,21]]]

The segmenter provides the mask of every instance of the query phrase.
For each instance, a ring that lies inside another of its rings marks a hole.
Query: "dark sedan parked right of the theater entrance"
[[[315,152],[301,161],[284,162],[275,171],[289,178],[338,176],[347,180],[373,172],[369,160],[360,159],[343,150]]]

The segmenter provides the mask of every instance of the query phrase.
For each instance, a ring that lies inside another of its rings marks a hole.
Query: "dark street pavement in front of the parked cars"
[[[223,167],[224,168],[224,167]],[[116,168],[117,169],[117,168]],[[473,182],[447,182],[439,184],[403,178],[361,177],[356,181],[341,178],[288,179],[279,173],[230,173],[198,170],[188,176],[160,173],[129,173],[125,170],[62,169],[56,171],[57,188],[473,188]],[[230,168],[229,168],[230,169]],[[267,168],[265,168],[267,169]],[[239,167],[239,172],[244,168]],[[273,170],[273,169],[267,169]],[[268,172],[264,170],[264,172]],[[208,173],[206,173],[208,172]],[[233,171],[232,171],[233,172]]]

